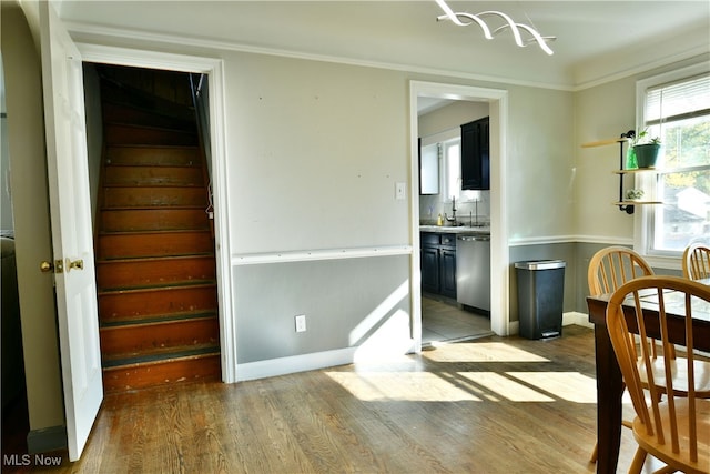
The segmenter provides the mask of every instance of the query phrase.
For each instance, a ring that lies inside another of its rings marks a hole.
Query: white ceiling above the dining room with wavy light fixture
[[[434,0],[63,0],[59,13],[79,40],[189,42],[562,90],[710,51],[707,0],[447,3],[531,24],[557,37],[555,54],[518,48],[505,32],[486,40],[477,26],[438,22],[443,11]]]

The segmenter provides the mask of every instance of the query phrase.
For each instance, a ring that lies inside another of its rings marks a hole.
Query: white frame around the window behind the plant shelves
[[[671,81],[690,79],[693,75],[707,73],[710,70],[710,61],[701,62],[699,64],[690,65],[687,68],[678,69],[659,75],[653,75],[648,79],[642,79],[636,83],[636,130],[643,130],[646,123],[645,118],[645,104],[646,104],[646,91],[649,88],[661,85]],[[636,177],[636,188],[641,189],[656,189],[656,179],[658,173],[639,173]],[[659,269],[682,269],[682,251],[679,252],[651,252],[653,233],[653,219],[656,212],[655,205],[639,205],[633,220],[633,248],[637,252],[641,253],[649,264]]]

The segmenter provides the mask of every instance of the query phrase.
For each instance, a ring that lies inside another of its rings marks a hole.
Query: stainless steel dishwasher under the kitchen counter
[[[490,314],[490,234],[456,239],[456,301]]]

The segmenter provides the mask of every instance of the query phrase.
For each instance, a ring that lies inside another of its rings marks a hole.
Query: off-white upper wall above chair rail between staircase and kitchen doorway
[[[408,243],[402,73],[225,57],[233,252]]]

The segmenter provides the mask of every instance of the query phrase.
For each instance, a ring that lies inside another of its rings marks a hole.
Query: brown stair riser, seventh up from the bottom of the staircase
[[[103,193],[105,209],[169,205],[206,209],[206,191],[203,188],[105,188]]]

